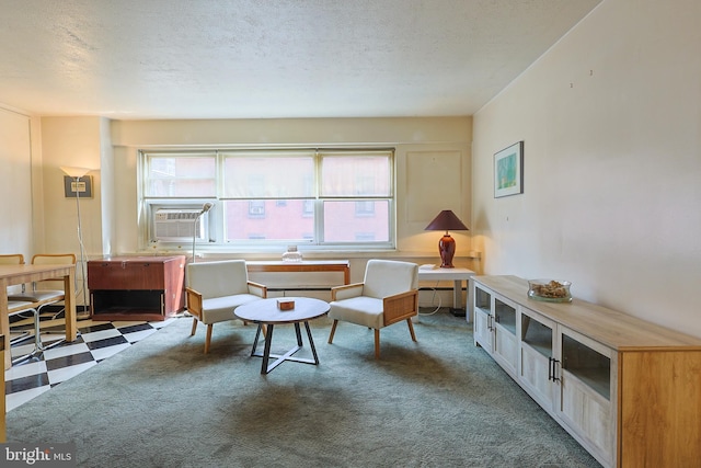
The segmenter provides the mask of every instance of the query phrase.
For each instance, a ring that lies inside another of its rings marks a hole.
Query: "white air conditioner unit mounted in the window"
[[[207,240],[208,213],[202,209],[162,208],[153,213],[153,238],[162,241]],[[199,217],[198,217],[199,216]],[[196,220],[196,222],[195,222]]]

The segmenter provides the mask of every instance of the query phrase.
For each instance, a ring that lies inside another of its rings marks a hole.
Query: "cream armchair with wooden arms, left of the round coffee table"
[[[249,281],[244,260],[189,263],[186,269],[187,311],[193,316],[191,336],[197,322],[207,326],[205,354],[209,352],[212,326],[233,320],[233,310],[267,296],[267,288]]]

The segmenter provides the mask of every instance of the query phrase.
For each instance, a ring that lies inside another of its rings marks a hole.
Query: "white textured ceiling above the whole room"
[[[600,0],[0,0],[39,115],[472,115]]]

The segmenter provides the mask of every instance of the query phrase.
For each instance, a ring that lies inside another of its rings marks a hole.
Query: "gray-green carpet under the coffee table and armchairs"
[[[381,332],[313,322],[321,364],[250,357],[255,327],[183,318],[8,414],[8,442],[77,444],[79,467],[597,467],[439,312]],[[292,345],[275,330],[274,352]],[[304,343],[306,336],[304,336]],[[275,350],[277,347],[277,350]],[[309,353],[308,347],[298,354]]]

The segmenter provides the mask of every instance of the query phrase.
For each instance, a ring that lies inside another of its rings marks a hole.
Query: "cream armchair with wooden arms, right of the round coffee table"
[[[370,260],[363,283],[331,289],[329,343],[338,321],[375,329],[375,357],[380,357],[380,329],[406,320],[416,341],[412,317],[418,313],[418,265],[394,260]]]

